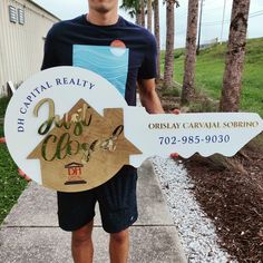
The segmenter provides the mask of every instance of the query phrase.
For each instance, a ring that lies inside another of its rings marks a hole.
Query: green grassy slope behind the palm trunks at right
[[[213,99],[221,98],[226,45],[202,50],[196,61],[196,89]],[[183,82],[184,49],[175,50],[174,79]],[[164,52],[162,52],[164,68]],[[263,38],[250,39],[242,79],[241,109],[263,116]]]

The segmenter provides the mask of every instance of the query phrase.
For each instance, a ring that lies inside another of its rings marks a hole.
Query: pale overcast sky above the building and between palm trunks
[[[81,13],[88,12],[87,0],[33,0],[48,11],[52,12],[58,18],[71,19]],[[166,18],[165,6],[160,0],[160,35],[162,40],[165,39]],[[185,46],[186,21],[187,21],[187,3],[188,0],[179,0],[181,7],[175,10],[175,48]],[[225,8],[225,23],[223,28],[223,40],[228,38],[228,27],[231,18],[232,0],[226,0]],[[210,42],[211,40],[221,39],[222,20],[223,20],[224,0],[204,0],[203,8],[203,26],[201,42]],[[126,14],[121,9],[119,13],[126,19],[133,19]],[[263,0],[251,0],[250,20],[249,20],[249,38],[263,37]],[[162,41],[164,49],[165,42]]]

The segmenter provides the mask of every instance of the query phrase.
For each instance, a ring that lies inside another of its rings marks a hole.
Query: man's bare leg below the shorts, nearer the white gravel
[[[111,263],[126,263],[129,253],[128,228],[118,233],[111,233],[109,237],[109,255]]]

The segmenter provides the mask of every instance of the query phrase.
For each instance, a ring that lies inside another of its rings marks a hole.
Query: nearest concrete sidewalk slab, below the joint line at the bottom
[[[132,227],[130,262],[183,262],[173,246],[175,236],[175,227]],[[108,235],[101,227],[95,227],[94,240],[95,262],[108,262]],[[0,241],[3,241],[0,259],[4,263],[72,263],[70,233],[58,227],[4,227],[0,232]]]

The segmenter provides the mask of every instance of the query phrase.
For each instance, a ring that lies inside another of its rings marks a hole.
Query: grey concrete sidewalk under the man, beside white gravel
[[[130,227],[130,263],[185,263],[176,227],[152,164],[138,169],[139,220]],[[97,213],[99,214],[99,213]],[[108,235],[96,215],[95,262],[108,260]],[[0,262],[69,263],[70,233],[57,223],[56,193],[30,183],[0,230]]]

